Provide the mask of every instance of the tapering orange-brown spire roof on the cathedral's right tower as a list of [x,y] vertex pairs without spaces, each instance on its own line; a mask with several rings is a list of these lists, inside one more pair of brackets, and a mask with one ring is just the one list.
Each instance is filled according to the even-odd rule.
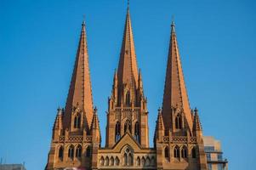
[[162,116],[165,127],[171,127],[172,107],[179,107],[185,112],[188,126],[192,130],[192,117],[188,95],[185,88],[179,48],[175,33],[174,21],[172,21],[171,39],[168,52],[168,65],[165,78],[165,87],[162,101]]

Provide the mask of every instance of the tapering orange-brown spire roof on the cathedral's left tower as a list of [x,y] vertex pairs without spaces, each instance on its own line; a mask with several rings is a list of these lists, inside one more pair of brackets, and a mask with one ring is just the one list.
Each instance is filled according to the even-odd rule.
[[74,106],[78,106],[85,113],[84,118],[87,120],[86,124],[91,124],[93,119],[93,97],[84,21],[82,21],[82,31],[77,49],[77,57],[65,104],[65,127],[68,127],[70,124],[71,111]]

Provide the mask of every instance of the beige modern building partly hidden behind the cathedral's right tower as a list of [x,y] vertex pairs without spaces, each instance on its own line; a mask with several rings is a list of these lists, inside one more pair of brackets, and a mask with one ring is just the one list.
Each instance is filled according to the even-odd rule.
[[223,158],[220,141],[212,136],[204,136],[203,142],[208,160],[208,170],[228,170],[228,161]]

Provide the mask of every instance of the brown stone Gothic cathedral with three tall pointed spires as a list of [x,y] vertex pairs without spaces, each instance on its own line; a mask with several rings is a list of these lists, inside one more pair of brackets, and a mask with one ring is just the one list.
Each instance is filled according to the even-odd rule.
[[198,111],[191,109],[185,87],[174,22],[162,106],[156,112],[154,146],[150,147],[150,114],[128,8],[119,63],[108,98],[105,146],[101,146],[83,21],[65,108],[57,110],[45,169],[208,169]]

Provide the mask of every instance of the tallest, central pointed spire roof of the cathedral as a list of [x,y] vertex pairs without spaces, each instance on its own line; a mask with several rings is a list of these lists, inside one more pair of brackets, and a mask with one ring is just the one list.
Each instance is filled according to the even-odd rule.
[[134,36],[131,26],[129,8],[127,9],[126,22],[123,31],[122,49],[117,70],[118,82],[138,86],[138,68],[134,48]]

